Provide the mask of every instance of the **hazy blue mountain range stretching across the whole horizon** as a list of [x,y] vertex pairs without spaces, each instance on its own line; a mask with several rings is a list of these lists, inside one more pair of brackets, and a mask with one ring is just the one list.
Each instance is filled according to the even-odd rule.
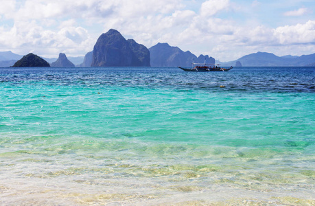
[[[23,58],[12,52],[0,52],[0,67],[10,67]],[[117,30],[109,30],[98,38],[92,52],[84,57],[69,57],[61,54],[59,58],[43,58],[49,64],[64,59],[67,65],[77,67],[191,67],[191,62],[207,62],[214,64],[215,59],[208,55],[196,56],[191,52],[183,52],[178,47],[167,43],[158,43],[149,49],[132,39],[126,40]],[[69,60],[68,60],[69,59]],[[69,62],[68,62],[69,61]],[[217,62],[222,66],[236,67],[314,67],[315,54],[302,56],[276,56],[272,53],[257,52],[248,54],[237,60]],[[58,64],[57,64],[58,65]],[[62,64],[60,64],[62,66]],[[60,67],[60,66],[59,66]]]

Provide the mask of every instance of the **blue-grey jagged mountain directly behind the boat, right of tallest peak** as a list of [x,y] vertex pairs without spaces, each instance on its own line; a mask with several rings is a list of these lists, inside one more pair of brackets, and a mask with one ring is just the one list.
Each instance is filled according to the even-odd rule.
[[198,58],[191,52],[183,52],[178,47],[171,47],[167,43],[158,43],[150,47],[150,59],[152,67],[191,67],[191,62],[207,62],[214,64],[215,59],[208,55],[200,55]]

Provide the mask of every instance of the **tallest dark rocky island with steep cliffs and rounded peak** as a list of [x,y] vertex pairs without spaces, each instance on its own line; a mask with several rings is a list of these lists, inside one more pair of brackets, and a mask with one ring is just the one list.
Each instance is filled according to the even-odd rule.
[[93,48],[92,67],[150,67],[147,47],[126,40],[117,30],[102,34]]

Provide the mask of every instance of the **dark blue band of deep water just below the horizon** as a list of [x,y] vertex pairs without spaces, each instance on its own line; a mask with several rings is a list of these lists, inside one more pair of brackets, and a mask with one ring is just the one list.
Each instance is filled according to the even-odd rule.
[[235,67],[229,72],[178,68],[1,68],[1,82],[43,82],[86,87],[147,87],[222,91],[314,92],[315,67]]

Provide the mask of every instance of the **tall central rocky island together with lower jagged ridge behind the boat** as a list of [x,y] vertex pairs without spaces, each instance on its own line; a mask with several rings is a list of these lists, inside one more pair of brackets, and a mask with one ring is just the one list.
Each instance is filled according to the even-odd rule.
[[117,30],[109,30],[100,36],[93,51],[84,56],[80,67],[191,67],[193,61],[215,63],[208,55],[197,57],[167,43],[147,49],[132,39],[126,41]]

